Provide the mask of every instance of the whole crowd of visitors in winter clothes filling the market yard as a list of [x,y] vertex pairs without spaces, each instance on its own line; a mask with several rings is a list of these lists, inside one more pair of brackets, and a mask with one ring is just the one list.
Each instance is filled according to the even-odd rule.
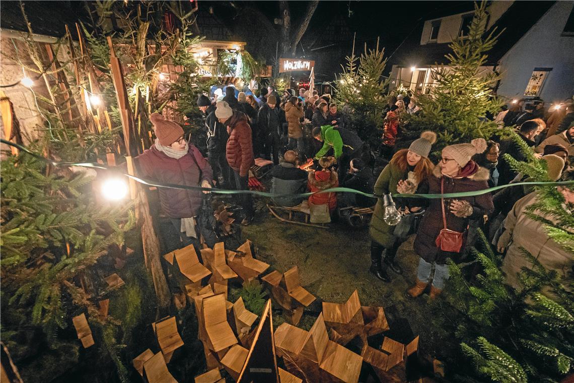
[[[524,105],[526,104],[526,105]],[[542,106],[540,106],[542,105]],[[286,89],[262,88],[259,96],[246,95],[227,87],[226,95],[214,100],[200,95],[197,107],[204,114],[207,132],[207,161],[184,138],[177,123],[159,114],[151,117],[157,140],[137,157],[144,175],[171,184],[200,185],[207,192],[213,186],[246,191],[255,158],[272,161],[273,203],[293,207],[307,203],[315,222],[330,222],[338,207],[374,207],[370,221],[371,264],[369,270],[382,281],[391,281],[389,270],[401,274],[397,250],[410,234],[416,234],[414,252],[419,256],[417,279],[408,289],[411,297],[430,288],[439,295],[449,276],[447,260],[460,261],[482,229],[495,249],[505,252],[507,281],[518,285],[517,273],[528,266],[521,247],[529,250],[546,268],[566,274],[574,261],[571,254],[546,234],[542,223],[528,215],[536,202],[532,188],[509,187],[502,191],[461,198],[426,199],[417,194],[475,192],[497,185],[528,180],[502,154],[526,160],[522,146],[498,136],[470,143],[448,145],[438,164],[429,156],[436,133],[425,131],[408,148],[397,148],[397,135],[405,116],[421,113],[416,99],[399,95],[389,102],[381,132],[379,155],[386,166],[378,177],[368,165],[369,145],[352,129],[348,113],[340,113],[331,95],[301,88],[296,94]],[[500,126],[516,125],[520,139],[545,161],[548,177],[572,180],[570,160],[574,156],[572,100],[544,114],[544,103],[519,100],[491,119]],[[332,153],[330,153],[332,152]],[[331,154],[331,155],[329,155]],[[306,164],[307,166],[301,166]],[[348,187],[378,198],[353,193],[322,192],[302,198],[305,192]],[[571,188],[559,188],[566,207],[574,206]],[[413,198],[382,196],[413,194]],[[236,194],[242,207],[242,224],[254,219],[249,193]],[[194,243],[201,234],[198,224],[201,192],[162,189],[162,210],[184,243]],[[389,206],[400,214],[398,222],[387,216]],[[552,220],[552,217],[548,217]],[[534,241],[533,238],[536,238]]]

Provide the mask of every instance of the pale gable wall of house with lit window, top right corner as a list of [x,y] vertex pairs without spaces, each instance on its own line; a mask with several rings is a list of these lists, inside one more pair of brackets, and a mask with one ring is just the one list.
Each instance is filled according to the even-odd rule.
[[561,36],[574,2],[557,1],[500,61],[498,94],[522,97],[534,68],[552,68],[542,87],[546,103],[574,93],[574,37]]

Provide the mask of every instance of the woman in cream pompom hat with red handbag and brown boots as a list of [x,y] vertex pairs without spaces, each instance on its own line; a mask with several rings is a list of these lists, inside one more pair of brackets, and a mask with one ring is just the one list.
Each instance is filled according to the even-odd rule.
[[[471,157],[486,150],[486,141],[476,138],[470,144],[449,145],[443,149],[439,165],[429,177],[429,194],[472,192],[488,188],[488,169],[479,167]],[[430,297],[442,291],[448,279],[447,260],[460,261],[465,232],[471,219],[482,219],[494,208],[490,193],[430,200],[414,240],[420,256],[417,283],[408,294],[417,297],[430,284]],[[430,279],[432,269],[435,274]]]

